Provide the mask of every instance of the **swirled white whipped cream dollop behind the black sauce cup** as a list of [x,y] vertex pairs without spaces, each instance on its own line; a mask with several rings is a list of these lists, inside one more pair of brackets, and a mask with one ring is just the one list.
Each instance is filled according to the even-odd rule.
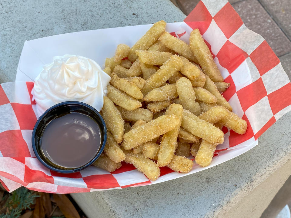
[[100,111],[109,81],[109,75],[92,59],[69,54],[55,56],[35,78],[32,95],[36,112],[40,116],[63,101],[81,101]]

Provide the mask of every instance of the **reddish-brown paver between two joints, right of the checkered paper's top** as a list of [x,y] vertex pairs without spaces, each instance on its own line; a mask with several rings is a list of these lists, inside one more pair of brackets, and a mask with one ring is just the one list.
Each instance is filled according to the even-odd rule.
[[290,40],[257,0],[240,1],[232,6],[246,27],[263,36],[277,56],[291,51]]

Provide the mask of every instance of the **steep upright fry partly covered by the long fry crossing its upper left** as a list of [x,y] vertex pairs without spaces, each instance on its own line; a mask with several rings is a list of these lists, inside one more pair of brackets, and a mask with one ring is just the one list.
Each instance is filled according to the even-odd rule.
[[177,148],[177,137],[178,137],[179,129],[182,122],[182,114],[183,114],[183,107],[181,104],[171,104],[166,110],[166,113],[164,116],[175,115],[178,119],[178,123],[176,124],[176,127],[174,129],[165,133],[162,137],[160,150],[158,154],[158,162],[157,162],[159,167],[168,165],[173,158],[173,155]]

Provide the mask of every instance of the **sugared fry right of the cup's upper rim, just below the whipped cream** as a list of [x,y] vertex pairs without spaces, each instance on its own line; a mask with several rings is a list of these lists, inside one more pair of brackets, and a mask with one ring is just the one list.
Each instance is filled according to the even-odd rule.
[[109,97],[104,96],[103,102],[102,117],[106,127],[112,133],[115,141],[121,143],[124,134],[124,120]]

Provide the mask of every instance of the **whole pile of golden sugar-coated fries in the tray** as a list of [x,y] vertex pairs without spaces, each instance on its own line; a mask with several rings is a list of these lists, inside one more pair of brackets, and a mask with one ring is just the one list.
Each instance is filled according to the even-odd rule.
[[230,84],[199,30],[188,45],[165,27],[165,21],[155,23],[132,48],[120,44],[106,58],[111,81],[101,112],[108,134],[97,167],[112,172],[125,161],[156,180],[163,166],[189,172],[190,154],[208,166],[224,141],[223,126],[246,132],[246,121],[221,95]]

